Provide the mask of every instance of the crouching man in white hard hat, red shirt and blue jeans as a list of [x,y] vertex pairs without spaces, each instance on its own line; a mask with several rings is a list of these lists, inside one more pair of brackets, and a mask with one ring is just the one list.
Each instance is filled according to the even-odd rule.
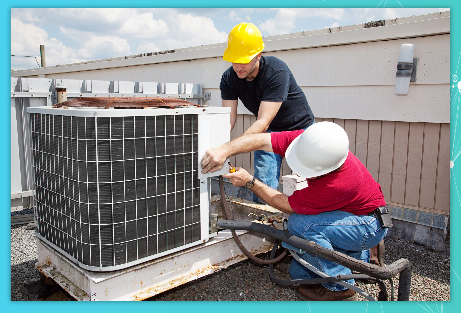
[[[373,214],[378,207],[386,205],[381,186],[349,151],[348,136],[340,126],[320,122],[307,130],[241,136],[219,148],[207,150],[201,160],[202,173],[220,169],[229,155],[254,150],[286,157],[296,175],[307,178],[308,187],[286,196],[255,180],[241,167],[223,177],[229,178],[235,186],[251,188],[268,205],[291,214],[288,219],[290,234],[364,262],[372,259],[371,263],[384,266],[384,246],[379,243],[387,228],[382,228]],[[378,244],[382,246],[381,251],[377,251]],[[348,268],[316,255],[305,253],[301,256],[330,276],[351,274]],[[293,279],[319,278],[295,259],[290,265],[290,276]],[[347,282],[354,284],[354,280]],[[295,293],[305,301],[357,301],[355,291],[337,283],[299,285]]]

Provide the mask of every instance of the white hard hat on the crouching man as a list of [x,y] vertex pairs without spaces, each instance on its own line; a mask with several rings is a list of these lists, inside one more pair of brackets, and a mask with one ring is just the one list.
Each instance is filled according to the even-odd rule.
[[349,153],[349,137],[341,126],[319,122],[291,142],[285,157],[291,170],[304,178],[317,177],[343,165]]

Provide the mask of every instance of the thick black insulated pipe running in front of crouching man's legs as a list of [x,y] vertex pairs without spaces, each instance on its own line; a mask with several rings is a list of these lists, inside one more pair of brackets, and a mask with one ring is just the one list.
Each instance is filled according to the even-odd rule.
[[321,258],[338,263],[342,266],[350,268],[353,271],[361,272],[379,279],[389,279],[402,272],[400,273],[400,279],[402,280],[403,277],[405,284],[402,283],[402,285],[400,285],[399,283],[399,293],[402,295],[402,299],[406,299],[406,297],[409,296],[408,281],[411,282],[411,264],[406,259],[399,259],[386,267],[379,267],[370,263],[363,262],[361,260],[354,259],[349,255],[324,248],[314,242],[296,237],[286,231],[278,230],[274,227],[260,223],[219,220],[217,226],[219,229],[251,230],[259,232],[261,234],[265,234],[280,241],[286,242],[295,248],[306,250],[307,253],[318,255]]

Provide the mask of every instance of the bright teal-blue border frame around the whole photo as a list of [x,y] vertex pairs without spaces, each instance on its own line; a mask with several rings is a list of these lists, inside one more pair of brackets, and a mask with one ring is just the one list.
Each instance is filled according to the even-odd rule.
[[[1,219],[1,232],[0,238],[0,271],[3,272],[3,275],[0,276],[0,301],[2,307],[4,307],[4,312],[13,312],[13,311],[22,311],[22,310],[33,310],[33,311],[44,311],[44,310],[66,310],[66,313],[78,312],[81,313],[83,309],[80,306],[88,306],[87,309],[91,307],[90,310],[98,311],[111,311],[111,312],[125,312],[127,309],[134,309],[134,307],[125,307],[125,305],[130,306],[129,304],[124,303],[104,303],[104,304],[89,304],[87,302],[13,302],[10,301],[10,241],[6,238],[7,234],[7,224],[8,216],[7,213],[7,203],[8,203],[8,190],[10,190],[10,112],[7,109],[7,95],[9,91],[9,76],[6,76],[8,67],[10,63],[9,57],[7,57],[7,52],[10,50],[10,8],[12,7],[325,7],[325,8],[336,8],[336,7],[355,7],[355,8],[375,8],[383,7],[384,5],[389,8],[399,8],[399,7],[443,7],[450,8],[450,20],[451,20],[451,54],[450,54],[450,82],[452,88],[450,89],[450,145],[452,150],[450,152],[450,159],[455,159],[454,166],[450,170],[450,220],[451,224],[455,225],[457,222],[460,222],[460,209],[461,209],[461,158],[460,161],[456,159],[457,154],[460,150],[454,149],[455,145],[461,140],[461,125],[460,129],[456,130],[458,123],[458,115],[461,114],[460,110],[460,99],[461,99],[461,89],[458,89],[457,83],[461,81],[461,67],[460,57],[461,57],[461,33],[460,25],[461,21],[458,19],[460,15],[458,13],[461,11],[461,1],[459,0],[234,0],[234,1],[223,1],[219,5],[216,1],[202,0],[198,1],[184,1],[177,0],[174,2],[166,1],[146,1],[140,0],[136,2],[130,2],[129,5],[125,1],[115,0],[115,1],[66,1],[66,2],[56,2],[56,1],[30,1],[24,0],[21,2],[17,1],[5,1],[0,5],[0,23],[3,25],[1,30],[1,55],[4,55],[5,59],[2,59],[0,62],[0,69],[3,73],[0,75],[1,79],[1,89],[3,90],[2,98],[5,100],[4,104],[0,106],[0,134],[3,136],[0,137],[1,145],[4,147],[4,153],[0,153],[0,175],[2,179],[0,180],[0,203],[3,203],[3,218]],[[8,59],[7,59],[8,58]],[[447,73],[448,75],[448,73]],[[456,77],[454,77],[456,75]],[[460,77],[454,81],[453,78]],[[460,87],[461,88],[461,83]],[[461,120],[461,116],[460,116]],[[7,147],[7,148],[6,148]],[[461,148],[460,148],[461,149]],[[458,184],[456,184],[458,180]],[[458,187],[456,188],[456,185]],[[338,312],[384,312],[392,310],[394,312],[421,312],[421,313],[449,313],[449,312],[459,312],[461,307],[460,299],[460,287],[461,287],[461,264],[460,256],[461,252],[461,238],[460,238],[460,228],[451,227],[450,230],[450,241],[451,241],[451,272],[450,272],[450,292],[451,301],[449,302],[348,302],[347,304],[341,304],[341,302],[272,302],[271,307],[261,307],[261,303],[258,302],[141,302],[136,304],[136,306],[142,307],[148,310],[169,310],[169,311],[179,311],[187,310],[188,312],[202,312],[202,311],[229,311],[230,309],[238,309],[243,312],[248,312],[253,309],[277,309],[277,310],[302,310],[304,312],[315,313],[326,310],[337,310]],[[87,304],[85,304],[87,303]],[[99,307],[99,305],[101,307]],[[134,305],[134,304],[133,304]],[[458,309],[456,309],[458,307]],[[307,311],[308,310],[308,311]]]

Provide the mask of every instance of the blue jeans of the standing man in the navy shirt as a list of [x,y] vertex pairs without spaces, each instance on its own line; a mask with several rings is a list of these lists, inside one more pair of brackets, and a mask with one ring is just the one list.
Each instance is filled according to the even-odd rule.
[[[315,124],[315,120],[309,126]],[[307,128],[307,127],[306,127]],[[306,129],[304,128],[304,129]],[[272,130],[266,130],[267,133],[272,133]],[[278,180],[280,179],[280,166],[282,165],[283,157],[273,152],[264,150],[256,150],[253,154],[254,177],[261,183],[266,184],[272,189],[277,190]],[[266,204],[257,195],[253,194],[253,202]]]

